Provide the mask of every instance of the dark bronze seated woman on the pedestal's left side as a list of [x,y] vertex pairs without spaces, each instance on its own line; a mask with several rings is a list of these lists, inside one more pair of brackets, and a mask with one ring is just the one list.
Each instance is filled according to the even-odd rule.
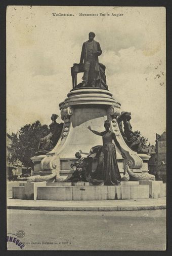
[[53,150],[55,145],[57,144],[63,128],[63,123],[58,124],[56,122],[57,118],[58,118],[58,115],[56,114],[52,115],[51,117],[52,123],[49,125],[50,133],[44,138],[40,139],[38,144],[38,149],[37,149],[37,152],[35,152],[35,155],[47,154],[48,152]]

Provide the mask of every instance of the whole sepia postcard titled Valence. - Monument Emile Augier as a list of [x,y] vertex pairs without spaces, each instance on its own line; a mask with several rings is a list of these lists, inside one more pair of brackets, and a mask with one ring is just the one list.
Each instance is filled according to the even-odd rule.
[[7,249],[166,250],[164,7],[7,7]]

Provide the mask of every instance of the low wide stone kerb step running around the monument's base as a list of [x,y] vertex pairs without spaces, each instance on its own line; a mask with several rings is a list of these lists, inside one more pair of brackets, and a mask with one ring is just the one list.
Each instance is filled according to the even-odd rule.
[[125,200],[23,200],[8,199],[8,209],[49,210],[49,211],[132,211],[166,209],[166,198],[125,199]]

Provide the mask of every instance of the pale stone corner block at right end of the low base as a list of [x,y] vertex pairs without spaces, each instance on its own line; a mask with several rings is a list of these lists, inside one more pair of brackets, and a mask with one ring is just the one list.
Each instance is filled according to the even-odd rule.
[[150,198],[160,198],[161,197],[161,186],[163,185],[162,181],[140,180],[139,184],[149,185],[149,197]]

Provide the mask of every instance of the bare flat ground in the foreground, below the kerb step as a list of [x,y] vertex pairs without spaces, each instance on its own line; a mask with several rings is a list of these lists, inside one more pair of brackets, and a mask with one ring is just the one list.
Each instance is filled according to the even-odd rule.
[[8,210],[8,233],[25,232],[25,236],[20,238],[25,247],[20,249],[15,243],[8,242],[8,249],[164,250],[165,216],[165,210]]

